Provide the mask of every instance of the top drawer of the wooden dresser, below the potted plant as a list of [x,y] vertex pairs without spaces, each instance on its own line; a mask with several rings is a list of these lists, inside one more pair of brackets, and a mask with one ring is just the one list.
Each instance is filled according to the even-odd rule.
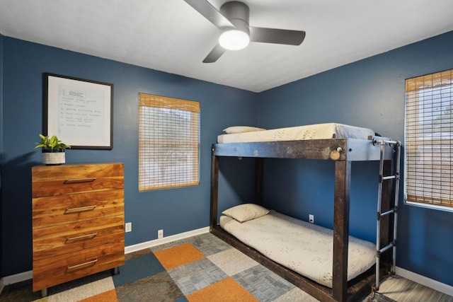
[[32,179],[33,198],[124,188],[122,163],[40,165]]

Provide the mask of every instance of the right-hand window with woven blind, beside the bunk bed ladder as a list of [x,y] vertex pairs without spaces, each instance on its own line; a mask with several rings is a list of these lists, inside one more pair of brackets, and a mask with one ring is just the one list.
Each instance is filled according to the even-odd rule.
[[406,80],[406,202],[453,210],[453,70]]

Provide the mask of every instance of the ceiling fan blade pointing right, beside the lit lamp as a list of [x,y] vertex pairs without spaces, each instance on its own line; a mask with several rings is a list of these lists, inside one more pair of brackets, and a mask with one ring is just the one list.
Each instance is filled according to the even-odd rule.
[[305,39],[302,30],[280,30],[277,28],[254,28],[249,26],[250,41],[285,45],[300,45]]

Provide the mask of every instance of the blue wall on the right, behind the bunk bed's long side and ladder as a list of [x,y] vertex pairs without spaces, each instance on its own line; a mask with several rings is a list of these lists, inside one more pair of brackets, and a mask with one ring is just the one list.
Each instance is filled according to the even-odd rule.
[[[453,69],[453,32],[260,93],[258,124],[339,122],[403,141],[405,79],[446,69]],[[272,161],[265,169],[268,207],[333,225],[333,163]],[[372,241],[377,175],[377,163],[352,163],[350,231]],[[402,194],[400,201],[398,267],[453,286],[453,213],[408,206]]]

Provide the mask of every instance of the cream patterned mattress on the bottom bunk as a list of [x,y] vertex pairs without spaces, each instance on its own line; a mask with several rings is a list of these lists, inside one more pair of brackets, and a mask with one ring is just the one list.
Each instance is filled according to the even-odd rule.
[[[221,216],[220,226],[270,260],[332,288],[333,231],[273,210],[267,212],[239,221]],[[372,267],[375,255],[376,245],[349,236],[348,281]]]

